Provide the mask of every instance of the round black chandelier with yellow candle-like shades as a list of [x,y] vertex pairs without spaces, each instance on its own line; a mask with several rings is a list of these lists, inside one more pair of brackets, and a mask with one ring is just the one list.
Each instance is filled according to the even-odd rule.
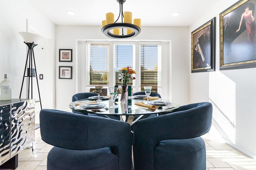
[[[132,24],[132,12],[123,12],[123,4],[126,0],[116,0],[120,10],[117,20],[114,22],[114,14],[106,14],[106,20],[102,21],[102,33],[110,38],[132,38],[140,34],[140,19],[136,18]],[[117,22],[121,19],[121,22]]]

